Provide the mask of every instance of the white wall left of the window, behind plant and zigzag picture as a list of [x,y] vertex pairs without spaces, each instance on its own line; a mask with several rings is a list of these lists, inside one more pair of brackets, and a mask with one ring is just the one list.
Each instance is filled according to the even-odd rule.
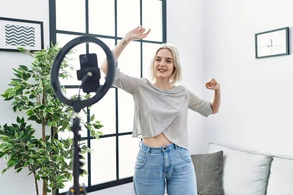
[[[34,8],[35,7],[35,8]],[[15,18],[23,20],[38,20],[43,21],[44,29],[44,46],[49,43],[49,3],[47,0],[1,0],[0,1],[0,17]],[[7,89],[7,85],[15,78],[12,68],[18,68],[18,65],[29,65],[32,58],[29,55],[17,52],[0,52],[0,90]],[[11,102],[10,102],[11,103]],[[23,116],[20,112],[14,113],[12,106],[8,102],[0,100],[0,124],[11,124],[15,122],[16,116]],[[33,126],[37,128],[37,126]],[[38,132],[38,131],[36,131]],[[41,130],[40,136],[41,136]],[[3,158],[0,159],[0,170],[4,168]],[[28,169],[22,170],[18,174],[14,174],[15,170],[7,171],[3,176],[0,176],[1,194],[9,195],[35,195],[34,176],[27,176]],[[42,192],[42,182],[39,182],[39,192]]]

